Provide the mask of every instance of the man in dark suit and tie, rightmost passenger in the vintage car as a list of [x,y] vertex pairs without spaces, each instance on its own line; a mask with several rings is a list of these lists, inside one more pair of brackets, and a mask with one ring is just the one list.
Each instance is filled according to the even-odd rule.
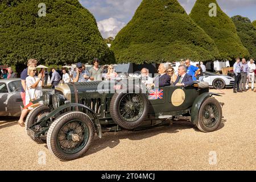
[[175,86],[193,85],[192,76],[187,75],[187,68],[185,67],[185,65],[180,65],[178,72],[179,72],[179,76],[177,77],[177,80],[174,82]]

